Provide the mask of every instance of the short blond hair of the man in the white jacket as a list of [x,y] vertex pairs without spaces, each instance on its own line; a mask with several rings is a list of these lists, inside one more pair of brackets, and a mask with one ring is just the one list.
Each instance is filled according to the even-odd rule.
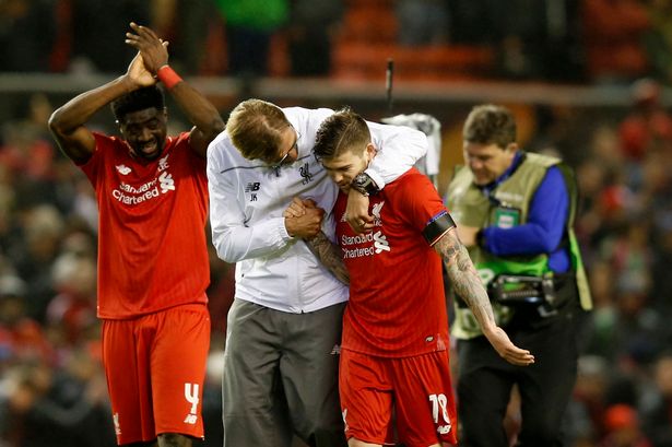
[[282,131],[291,126],[280,107],[261,99],[238,104],[226,122],[226,132],[247,160],[272,163],[282,144]]

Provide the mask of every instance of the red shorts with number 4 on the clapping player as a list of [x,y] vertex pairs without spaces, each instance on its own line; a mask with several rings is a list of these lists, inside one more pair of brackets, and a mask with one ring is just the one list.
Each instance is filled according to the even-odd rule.
[[209,349],[203,304],[104,320],[103,361],[118,444],[149,442],[162,433],[203,437]]

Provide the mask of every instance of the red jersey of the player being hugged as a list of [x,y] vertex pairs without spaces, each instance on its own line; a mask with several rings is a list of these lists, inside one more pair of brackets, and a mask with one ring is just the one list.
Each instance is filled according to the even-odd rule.
[[423,237],[433,217],[446,212],[440,197],[411,169],[369,199],[375,227],[363,235],[344,219],[346,196],[339,195],[334,209],[351,281],[343,349],[386,357],[446,350],[441,259]]

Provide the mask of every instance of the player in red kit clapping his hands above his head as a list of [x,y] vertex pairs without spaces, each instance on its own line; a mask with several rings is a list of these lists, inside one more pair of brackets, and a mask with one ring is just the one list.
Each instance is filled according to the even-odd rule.
[[[204,155],[224,122],[168,66],[168,43],[130,27],[138,55],[128,71],[57,109],[49,127],[96,191],[97,314],[117,443],[188,447],[203,438],[210,345]],[[189,132],[167,137],[160,82]],[[121,138],[86,127],[110,103]]]

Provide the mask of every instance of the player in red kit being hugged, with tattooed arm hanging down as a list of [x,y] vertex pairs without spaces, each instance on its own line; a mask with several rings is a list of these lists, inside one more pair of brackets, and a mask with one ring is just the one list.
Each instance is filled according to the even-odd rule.
[[[365,121],[349,109],[325,120],[315,145],[316,156],[342,192],[333,215],[351,281],[339,383],[349,446],[389,442],[392,409],[400,440],[408,447],[456,445],[441,261],[452,287],[467,296],[499,355],[517,365],[529,365],[534,357],[495,324],[455,223],[420,172],[413,168],[369,197],[370,232],[357,234],[347,224],[346,193],[377,149]],[[286,215],[298,216],[311,205],[296,199]],[[326,255],[326,262],[335,261],[333,246],[325,238],[308,243]]]

